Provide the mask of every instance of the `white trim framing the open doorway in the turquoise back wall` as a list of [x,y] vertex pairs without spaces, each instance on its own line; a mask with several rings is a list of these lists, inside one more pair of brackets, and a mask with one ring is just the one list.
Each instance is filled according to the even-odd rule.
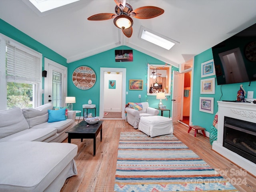
[[[100,68],[100,112],[99,118],[103,118],[104,113],[104,72],[122,72],[122,120],[125,120],[125,103],[126,103],[126,68]],[[114,101],[113,101],[114,102]],[[104,120],[111,120],[116,118],[104,118]]]

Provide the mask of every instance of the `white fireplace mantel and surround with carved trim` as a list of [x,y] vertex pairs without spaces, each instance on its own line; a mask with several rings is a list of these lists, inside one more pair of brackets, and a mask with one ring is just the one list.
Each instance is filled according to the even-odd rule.
[[223,147],[224,116],[256,123],[256,104],[218,101],[218,135],[212,149],[256,176],[256,164]]

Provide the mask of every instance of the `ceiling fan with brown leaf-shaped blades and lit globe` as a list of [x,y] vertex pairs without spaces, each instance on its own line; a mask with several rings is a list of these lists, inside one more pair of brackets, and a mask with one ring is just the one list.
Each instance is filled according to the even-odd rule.
[[114,0],[116,2],[115,12],[113,13],[99,13],[88,17],[91,21],[102,21],[114,18],[114,24],[116,27],[122,29],[124,35],[128,38],[132,36],[132,24],[131,18],[137,19],[150,19],[160,16],[164,13],[164,10],[155,6],[139,7],[135,10],[132,9],[126,0]]

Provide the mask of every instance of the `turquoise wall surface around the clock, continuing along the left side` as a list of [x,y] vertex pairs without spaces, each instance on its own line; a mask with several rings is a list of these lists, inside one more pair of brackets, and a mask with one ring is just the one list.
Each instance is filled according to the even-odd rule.
[[[67,64],[66,58],[57,54],[53,50],[44,46],[40,42],[34,40],[27,34],[24,34],[17,28],[11,26],[4,20],[0,19],[0,33],[20,42],[42,53],[43,56],[43,70],[44,70],[44,57],[53,60],[59,64],[68,67],[68,96],[75,96],[76,103],[73,105],[74,110],[82,110],[82,104],[86,104],[88,99],[92,99],[94,104],[97,106],[96,115],[99,115],[99,99],[100,99],[100,67],[112,67],[112,68],[126,68],[126,102],[144,102],[148,101],[150,106],[157,107],[159,100],[156,100],[156,96],[147,96],[147,64],[165,64],[164,62],[133,50],[133,62],[115,62],[114,50],[119,49],[131,49],[127,46],[120,46],[115,49],[111,49],[88,58],[78,60]],[[96,73],[96,84],[89,90],[80,90],[76,88],[72,82],[72,73],[78,66],[89,66]],[[172,67],[172,70],[178,70]],[[129,79],[142,79],[144,82],[143,90],[129,90],[128,82]],[[44,80],[44,79],[43,79]],[[43,82],[44,84],[44,82]],[[44,88],[44,86],[42,87]],[[171,90],[172,91],[172,90]],[[138,94],[141,94],[141,99],[138,98]],[[172,109],[171,96],[167,97],[168,100],[163,100],[162,103],[166,105],[166,108]],[[164,112],[164,116],[168,116],[168,112]]]

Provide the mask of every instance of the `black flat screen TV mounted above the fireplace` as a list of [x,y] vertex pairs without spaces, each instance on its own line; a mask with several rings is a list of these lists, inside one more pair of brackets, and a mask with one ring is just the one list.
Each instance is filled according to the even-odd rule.
[[212,47],[218,85],[256,81],[256,24]]

